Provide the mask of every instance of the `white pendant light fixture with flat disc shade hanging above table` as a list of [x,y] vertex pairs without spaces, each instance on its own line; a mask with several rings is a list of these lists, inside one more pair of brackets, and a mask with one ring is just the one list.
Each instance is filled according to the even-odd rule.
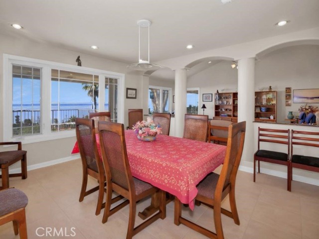
[[[157,65],[157,64],[152,64],[150,63],[150,26],[152,22],[146,19],[142,19],[138,21],[139,25],[139,63],[134,63],[131,65],[128,65],[128,68],[132,70],[137,70],[137,71],[147,71],[147,70],[158,70],[162,68],[162,66]],[[148,27],[148,60],[142,60],[141,59],[141,27]]]

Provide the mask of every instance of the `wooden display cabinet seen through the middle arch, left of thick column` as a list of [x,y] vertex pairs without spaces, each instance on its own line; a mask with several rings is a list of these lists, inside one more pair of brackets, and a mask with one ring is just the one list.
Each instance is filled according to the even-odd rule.
[[238,117],[238,93],[215,93],[215,117],[214,119],[228,118],[237,122]]

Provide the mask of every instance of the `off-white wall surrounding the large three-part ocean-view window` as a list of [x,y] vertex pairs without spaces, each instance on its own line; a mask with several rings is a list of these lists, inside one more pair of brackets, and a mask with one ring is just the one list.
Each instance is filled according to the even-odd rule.
[[[3,89],[3,53],[24,56],[29,58],[60,62],[76,65],[75,59],[81,56],[82,66],[119,72],[125,74],[125,87],[137,88],[137,99],[125,99],[125,125],[128,124],[127,110],[129,108],[142,107],[141,73],[128,72],[127,64],[111,61],[105,58],[83,54],[75,51],[65,50],[61,47],[52,46],[43,42],[34,42],[24,38],[16,38],[0,35],[0,92]],[[0,121],[2,122],[3,96],[0,95]],[[75,135],[75,132],[74,132]],[[0,141],[3,139],[3,124],[0,123]],[[44,141],[39,143],[22,144],[22,148],[27,150],[28,165],[38,164],[45,161],[65,158],[71,155],[71,150],[76,141],[75,137],[63,138],[59,140]],[[1,150],[10,150],[7,147]],[[14,166],[13,166],[14,167]],[[15,167],[19,167],[15,165]],[[12,168],[12,167],[10,167]]]

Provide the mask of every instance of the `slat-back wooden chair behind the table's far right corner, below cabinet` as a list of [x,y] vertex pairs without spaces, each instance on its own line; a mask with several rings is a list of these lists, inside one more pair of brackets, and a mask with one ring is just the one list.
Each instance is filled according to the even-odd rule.
[[228,126],[232,124],[231,121],[226,120],[210,120],[208,128],[208,142],[217,144],[226,144],[228,137]]

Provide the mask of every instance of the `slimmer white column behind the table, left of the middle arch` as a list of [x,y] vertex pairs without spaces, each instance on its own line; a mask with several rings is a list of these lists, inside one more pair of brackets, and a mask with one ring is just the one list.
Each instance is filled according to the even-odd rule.
[[186,114],[187,70],[175,70],[175,136],[182,137]]

